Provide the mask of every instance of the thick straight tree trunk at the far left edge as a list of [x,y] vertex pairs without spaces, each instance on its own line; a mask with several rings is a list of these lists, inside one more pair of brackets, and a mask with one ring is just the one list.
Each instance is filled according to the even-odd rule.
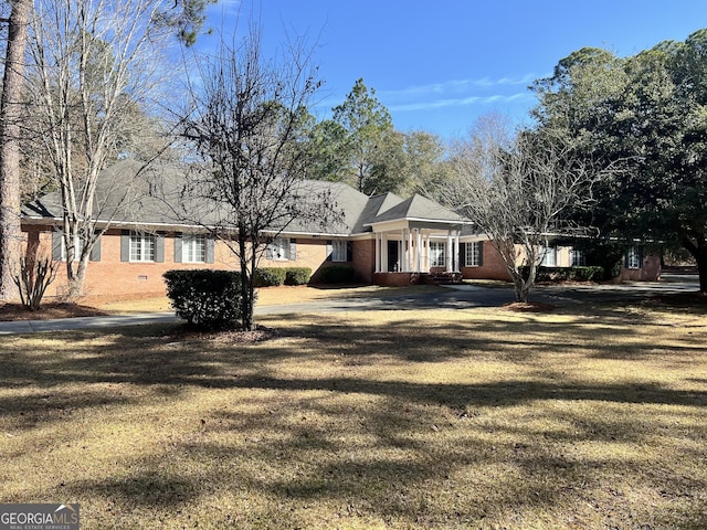
[[19,266],[20,229],[20,119],[24,83],[24,51],[32,0],[12,0],[0,97],[0,299],[17,296],[12,269]]

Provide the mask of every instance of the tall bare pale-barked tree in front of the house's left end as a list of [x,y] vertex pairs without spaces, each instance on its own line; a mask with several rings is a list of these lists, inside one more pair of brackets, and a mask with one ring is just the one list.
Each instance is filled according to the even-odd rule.
[[157,22],[169,3],[42,0],[34,10],[28,87],[40,127],[34,137],[44,142],[62,197],[68,297],[82,294],[92,248],[130,197],[125,181],[109,200],[97,198],[96,187],[101,171],[139,136],[136,107],[156,100],[168,77],[172,29]]

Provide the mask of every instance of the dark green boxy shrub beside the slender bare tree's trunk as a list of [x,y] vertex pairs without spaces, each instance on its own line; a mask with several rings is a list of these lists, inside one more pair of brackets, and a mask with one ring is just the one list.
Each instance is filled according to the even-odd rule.
[[241,273],[167,271],[167,296],[179,318],[205,329],[234,328],[241,318]]

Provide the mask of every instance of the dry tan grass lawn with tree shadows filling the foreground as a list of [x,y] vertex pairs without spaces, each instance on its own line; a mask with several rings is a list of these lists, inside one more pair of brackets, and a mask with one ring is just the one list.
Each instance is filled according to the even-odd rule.
[[707,317],[267,317],[0,339],[0,502],[82,528],[707,527]]

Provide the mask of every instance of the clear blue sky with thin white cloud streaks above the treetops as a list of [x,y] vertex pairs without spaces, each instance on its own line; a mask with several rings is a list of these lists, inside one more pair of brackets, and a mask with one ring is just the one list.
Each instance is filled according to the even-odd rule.
[[[633,55],[707,26],[701,0],[220,0],[208,24],[230,34],[260,12],[264,49],[306,34],[324,87],[313,109],[327,117],[363,78],[395,128],[452,138],[478,116],[527,120],[528,85],[583,46]],[[217,36],[203,36],[199,46]]]

